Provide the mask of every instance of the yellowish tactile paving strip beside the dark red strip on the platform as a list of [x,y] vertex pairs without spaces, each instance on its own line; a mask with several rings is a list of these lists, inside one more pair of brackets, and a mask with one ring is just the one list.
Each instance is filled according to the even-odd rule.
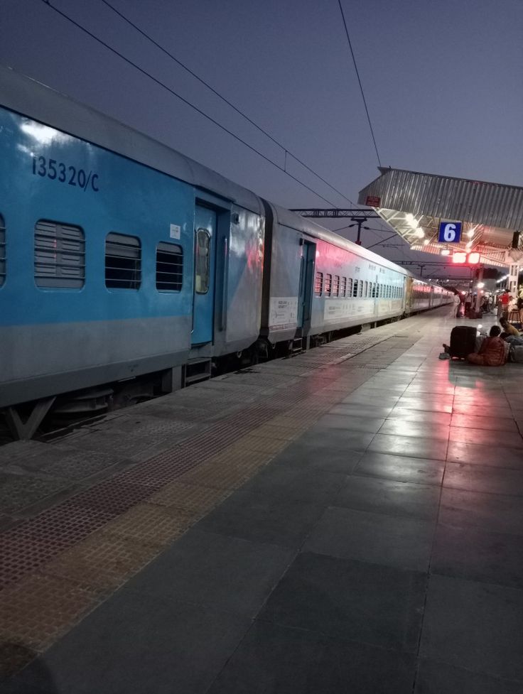
[[[347,379],[343,371],[331,374],[314,379],[307,394],[289,401],[284,412],[260,425],[255,412],[263,405],[253,403],[252,428],[245,435],[214,455],[208,452],[209,440],[203,441],[201,462],[176,482],[166,482],[159,491],[151,489],[149,497],[1,591],[4,675],[26,663],[31,651],[43,651],[63,636],[357,387],[354,376]],[[362,374],[361,380],[366,379]],[[185,445],[195,448],[193,442],[180,443]],[[180,446],[173,449],[173,457],[180,455]]]

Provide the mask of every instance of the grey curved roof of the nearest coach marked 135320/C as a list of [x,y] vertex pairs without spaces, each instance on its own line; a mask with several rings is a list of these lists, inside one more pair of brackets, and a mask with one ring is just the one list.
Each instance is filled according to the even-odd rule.
[[252,191],[189,157],[106,116],[0,65],[0,104],[28,118],[91,142],[198,188],[263,214]]

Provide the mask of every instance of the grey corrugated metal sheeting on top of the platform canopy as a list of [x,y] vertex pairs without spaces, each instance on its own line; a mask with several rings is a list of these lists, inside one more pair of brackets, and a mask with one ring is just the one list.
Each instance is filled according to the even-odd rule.
[[512,231],[523,229],[523,188],[517,185],[393,168],[379,170],[382,175],[360,191],[360,205],[367,205],[367,197],[379,197],[379,207],[388,210]]

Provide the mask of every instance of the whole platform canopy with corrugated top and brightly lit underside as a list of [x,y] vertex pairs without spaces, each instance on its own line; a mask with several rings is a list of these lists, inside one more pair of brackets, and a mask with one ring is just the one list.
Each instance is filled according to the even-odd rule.
[[[360,191],[413,251],[476,251],[485,265],[523,264],[523,188],[394,168]],[[459,243],[438,242],[440,222],[462,222]],[[515,235],[514,235],[515,234]],[[443,251],[443,253],[442,253]]]

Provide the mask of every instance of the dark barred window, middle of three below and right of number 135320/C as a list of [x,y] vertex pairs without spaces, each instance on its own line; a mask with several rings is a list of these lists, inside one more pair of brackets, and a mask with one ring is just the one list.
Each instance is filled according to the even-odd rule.
[[107,234],[105,239],[105,286],[138,289],[141,285],[141,244],[134,236]]

